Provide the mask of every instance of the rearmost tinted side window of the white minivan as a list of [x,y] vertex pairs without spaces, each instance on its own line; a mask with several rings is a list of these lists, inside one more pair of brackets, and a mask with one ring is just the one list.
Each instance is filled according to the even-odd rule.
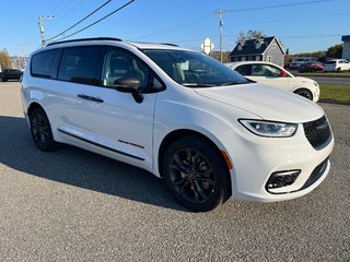
[[31,63],[32,75],[55,79],[59,52],[59,49],[55,49],[34,55]]

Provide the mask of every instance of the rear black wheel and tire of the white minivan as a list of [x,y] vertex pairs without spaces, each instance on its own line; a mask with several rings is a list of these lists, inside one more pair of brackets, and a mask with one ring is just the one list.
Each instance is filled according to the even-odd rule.
[[56,148],[50,122],[43,108],[35,108],[30,116],[31,133],[34,144],[40,151],[51,151]]

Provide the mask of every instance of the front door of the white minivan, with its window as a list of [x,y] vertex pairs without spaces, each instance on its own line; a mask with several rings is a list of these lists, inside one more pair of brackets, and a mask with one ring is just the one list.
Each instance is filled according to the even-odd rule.
[[[130,93],[113,86],[122,78],[140,81],[142,102]],[[160,83],[155,81],[156,83]],[[153,112],[156,92],[147,92],[154,78],[151,70],[135,55],[116,47],[107,47],[102,71],[102,86],[91,96],[103,100],[91,108],[94,140],[110,148],[120,160],[147,169],[152,166]]]

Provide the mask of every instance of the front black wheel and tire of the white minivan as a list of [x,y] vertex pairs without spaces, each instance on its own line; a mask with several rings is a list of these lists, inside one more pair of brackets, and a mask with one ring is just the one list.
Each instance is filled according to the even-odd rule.
[[211,211],[230,198],[225,163],[206,140],[184,136],[171,144],[164,155],[163,175],[173,195],[192,211]]

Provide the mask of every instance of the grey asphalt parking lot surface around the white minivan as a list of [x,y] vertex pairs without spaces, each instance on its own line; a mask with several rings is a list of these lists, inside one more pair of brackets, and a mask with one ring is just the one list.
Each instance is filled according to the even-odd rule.
[[36,150],[20,84],[0,83],[1,261],[350,261],[350,106],[319,105],[336,143],[315,191],[191,213],[139,168]]

